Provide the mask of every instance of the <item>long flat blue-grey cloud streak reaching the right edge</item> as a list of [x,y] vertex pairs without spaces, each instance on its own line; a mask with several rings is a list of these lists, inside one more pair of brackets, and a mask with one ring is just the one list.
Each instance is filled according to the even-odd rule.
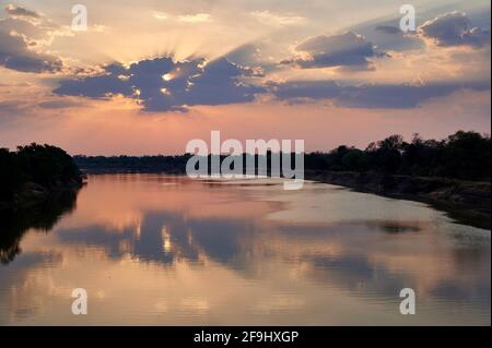
[[290,82],[270,84],[281,100],[328,99],[348,108],[408,109],[423,101],[447,96],[460,89],[488,91],[490,82],[409,84],[365,84],[343,86],[335,81]]

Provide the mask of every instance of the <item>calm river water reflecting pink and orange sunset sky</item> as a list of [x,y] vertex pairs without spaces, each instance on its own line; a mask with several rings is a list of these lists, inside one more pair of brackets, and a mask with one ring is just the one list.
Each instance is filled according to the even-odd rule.
[[[2,325],[491,324],[490,231],[421,203],[93,176],[77,202],[0,224]],[[87,315],[71,313],[74,288]]]

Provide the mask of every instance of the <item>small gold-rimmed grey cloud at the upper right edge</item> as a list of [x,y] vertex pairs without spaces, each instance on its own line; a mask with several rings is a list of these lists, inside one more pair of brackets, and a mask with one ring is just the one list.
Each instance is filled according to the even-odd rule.
[[423,38],[437,46],[470,46],[480,48],[490,45],[490,32],[471,27],[471,22],[462,12],[441,14],[422,24],[418,32]]

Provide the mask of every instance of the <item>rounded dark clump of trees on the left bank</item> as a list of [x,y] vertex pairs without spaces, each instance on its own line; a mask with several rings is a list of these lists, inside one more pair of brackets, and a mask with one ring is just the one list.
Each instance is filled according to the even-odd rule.
[[63,149],[50,145],[19,146],[15,152],[0,148],[0,202],[28,195],[27,187],[50,192],[80,184],[81,171]]

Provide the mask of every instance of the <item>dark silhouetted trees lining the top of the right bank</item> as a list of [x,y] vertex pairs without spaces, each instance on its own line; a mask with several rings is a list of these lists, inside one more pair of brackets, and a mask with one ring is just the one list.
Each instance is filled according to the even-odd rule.
[[476,132],[459,131],[442,141],[415,134],[410,143],[391,135],[364,151],[339,146],[328,154],[309,154],[306,168],[490,180],[490,136]]

